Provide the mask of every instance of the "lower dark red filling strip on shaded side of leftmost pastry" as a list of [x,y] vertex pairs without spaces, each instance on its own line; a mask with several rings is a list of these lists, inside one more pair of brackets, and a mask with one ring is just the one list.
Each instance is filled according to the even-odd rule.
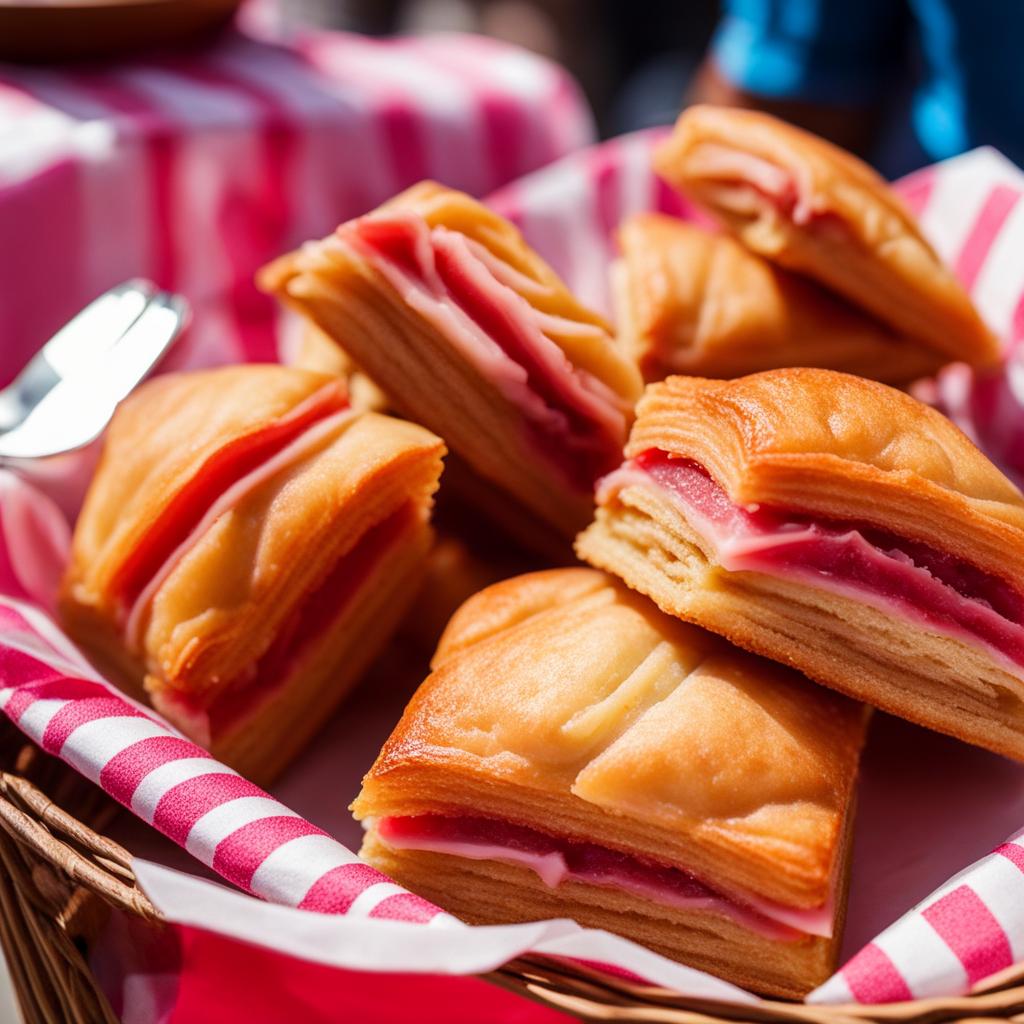
[[334,629],[374,568],[415,528],[415,521],[416,513],[407,505],[368,529],[299,602],[249,671],[218,690],[212,699],[204,703],[190,693],[164,689],[155,694],[158,710],[176,722],[189,723],[189,733],[204,737],[207,745],[238,725],[280,689]]

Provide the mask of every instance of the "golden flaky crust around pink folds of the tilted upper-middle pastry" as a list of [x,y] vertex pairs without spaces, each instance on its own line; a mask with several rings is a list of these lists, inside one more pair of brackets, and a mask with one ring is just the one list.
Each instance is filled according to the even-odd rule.
[[[502,294],[512,307],[560,349],[575,385],[596,396],[603,422],[587,419],[590,426],[573,433],[570,455],[559,461],[564,410],[520,379],[521,367],[487,344],[474,347],[478,326],[467,327],[465,316],[455,316],[454,326],[438,323],[432,298],[424,309],[367,257],[356,238],[359,225],[393,218],[396,211],[414,224],[459,232],[482,247],[481,259],[501,264],[496,287],[506,289]],[[260,282],[346,348],[396,410],[443,436],[481,478],[563,537],[589,518],[590,480],[571,478],[566,466],[577,465],[581,450],[588,451],[580,464],[606,462],[617,450],[642,387],[640,375],[603,319],[572,297],[512,224],[468,196],[425,182],[282,257],[264,268]]]

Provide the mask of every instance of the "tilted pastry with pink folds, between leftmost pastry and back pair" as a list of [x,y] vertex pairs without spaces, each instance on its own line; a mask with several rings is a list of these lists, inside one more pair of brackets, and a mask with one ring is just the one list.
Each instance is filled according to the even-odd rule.
[[508,221],[423,182],[260,283],[542,521],[570,537],[590,518],[640,377]]

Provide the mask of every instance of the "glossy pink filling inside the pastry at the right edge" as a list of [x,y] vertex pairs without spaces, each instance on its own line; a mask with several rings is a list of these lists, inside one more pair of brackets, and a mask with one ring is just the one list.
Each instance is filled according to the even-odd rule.
[[599,500],[650,482],[682,506],[729,571],[797,579],[983,645],[1018,672],[1024,667],[1024,595],[993,573],[867,523],[735,505],[702,466],[656,450],[605,477]]

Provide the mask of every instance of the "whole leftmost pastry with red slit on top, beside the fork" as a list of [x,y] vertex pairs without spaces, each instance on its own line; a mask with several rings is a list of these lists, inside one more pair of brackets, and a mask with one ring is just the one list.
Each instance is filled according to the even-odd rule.
[[118,410],[75,528],[70,635],[265,784],[397,626],[441,441],[273,366],[170,374]]

